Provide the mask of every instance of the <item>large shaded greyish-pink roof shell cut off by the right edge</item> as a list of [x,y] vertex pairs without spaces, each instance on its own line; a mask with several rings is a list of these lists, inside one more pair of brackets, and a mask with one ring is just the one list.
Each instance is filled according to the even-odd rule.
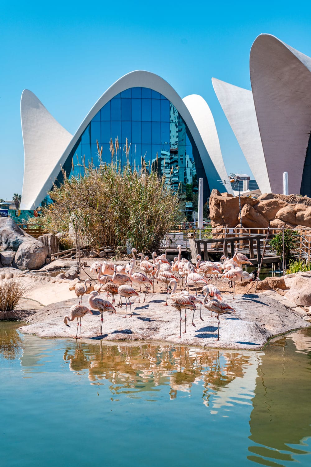
[[271,189],[300,193],[311,130],[311,58],[273,35],[259,35],[250,51],[250,79]]

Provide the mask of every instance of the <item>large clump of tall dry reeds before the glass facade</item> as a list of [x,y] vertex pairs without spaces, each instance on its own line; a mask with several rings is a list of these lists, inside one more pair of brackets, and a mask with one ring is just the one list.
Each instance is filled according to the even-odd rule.
[[[111,140],[111,163],[99,166],[84,159],[73,166],[76,176],[66,177],[49,193],[53,204],[42,212],[40,222],[59,232],[72,232],[84,246],[125,247],[130,240],[138,251],[152,251],[176,222],[178,194],[171,189],[170,176],[160,174],[158,158],[147,166],[129,163],[130,146],[120,155],[119,143]],[[121,162],[124,161],[124,162]]]

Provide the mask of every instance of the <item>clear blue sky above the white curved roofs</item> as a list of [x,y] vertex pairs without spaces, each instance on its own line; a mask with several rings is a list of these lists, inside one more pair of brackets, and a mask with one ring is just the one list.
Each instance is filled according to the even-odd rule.
[[104,91],[139,69],[159,74],[182,98],[206,99],[227,171],[250,173],[211,78],[250,89],[249,50],[261,33],[310,56],[310,2],[2,2],[0,198],[22,191],[23,89],[74,134]]

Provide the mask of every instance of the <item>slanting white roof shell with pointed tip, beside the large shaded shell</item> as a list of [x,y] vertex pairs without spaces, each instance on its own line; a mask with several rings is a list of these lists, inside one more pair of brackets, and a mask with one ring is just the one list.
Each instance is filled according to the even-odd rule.
[[252,92],[216,78],[212,78],[212,83],[260,191],[270,193],[271,186]]

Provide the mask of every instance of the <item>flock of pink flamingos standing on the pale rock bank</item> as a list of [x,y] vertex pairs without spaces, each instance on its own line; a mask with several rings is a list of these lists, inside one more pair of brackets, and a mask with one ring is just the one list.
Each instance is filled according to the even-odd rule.
[[[168,306],[169,302],[173,309],[179,311],[179,338],[181,338],[181,333],[187,332],[187,310],[193,312],[191,324],[195,326],[194,314],[197,305],[200,305],[200,319],[202,321],[202,307],[211,312],[211,317],[213,313],[215,314],[215,318],[218,320],[217,340],[219,340],[220,316],[224,313],[235,312],[235,310],[223,301],[221,291],[217,288],[217,278],[221,277],[228,280],[230,293],[233,286],[234,299],[235,282],[255,280],[257,271],[255,269],[251,274],[243,271],[242,266],[244,264],[252,263],[245,255],[239,253],[237,248],[232,258],[222,256],[220,262],[202,261],[201,256],[197,255],[195,265],[187,259],[181,258],[181,245],[178,246],[178,250],[178,256],[173,259],[173,262],[166,258],[166,255],[157,255],[156,252],[152,253],[152,260],[149,260],[149,257],[144,256],[143,253],[137,253],[136,248],[131,249],[132,258],[126,265],[106,261],[94,262],[90,267],[90,272],[97,274],[98,285],[96,285],[97,290],[91,291],[89,294],[90,308],[82,305],[82,297],[87,293],[91,285],[90,280],[87,279],[83,284],[76,284],[75,293],[79,304],[73,305],[69,310],[69,316],[64,317],[64,324],[67,326],[69,326],[68,321],[77,319],[77,331],[74,338],[78,339],[77,334],[80,324],[80,339],[82,339],[81,318],[89,312],[94,314],[91,309],[100,312],[99,335],[102,335],[104,311],[110,311],[110,314],[115,313],[117,315],[115,308],[116,295],[120,297],[117,307],[122,308],[123,298],[125,299],[125,316],[123,318],[128,316],[128,306],[130,307],[129,316],[132,317],[131,299],[138,297],[138,303],[140,303],[143,286],[143,302],[145,302],[146,295],[151,293],[151,289],[154,291],[154,282],[157,282],[161,283],[161,287],[165,286],[165,306]],[[140,272],[134,272],[137,261],[139,261]],[[212,284],[213,277],[215,278],[215,285]],[[139,286],[139,293],[134,289],[134,286]],[[177,290],[178,287],[180,287],[180,291]],[[195,288],[195,295],[189,292],[189,287]],[[198,298],[198,289],[202,290],[203,300]],[[106,300],[98,297],[101,292],[107,294]],[[108,300],[109,296],[112,298],[112,303]],[[185,313],[185,328],[181,332],[182,311]]]

